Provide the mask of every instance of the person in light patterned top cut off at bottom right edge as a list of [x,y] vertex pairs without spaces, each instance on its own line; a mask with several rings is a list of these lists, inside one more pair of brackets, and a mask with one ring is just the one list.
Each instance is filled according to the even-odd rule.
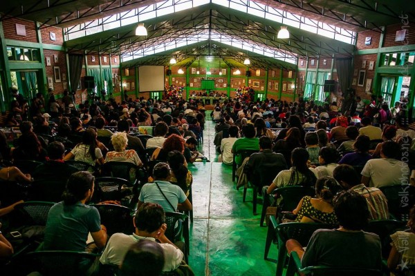
[[392,248],[387,259],[387,266],[391,270],[402,269],[400,264],[405,266],[415,265],[415,206],[409,211],[409,230],[397,231],[391,235]]

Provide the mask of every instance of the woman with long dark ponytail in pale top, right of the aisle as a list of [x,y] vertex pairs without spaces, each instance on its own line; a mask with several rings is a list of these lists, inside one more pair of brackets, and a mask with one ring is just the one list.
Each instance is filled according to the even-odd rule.
[[277,177],[275,177],[273,184],[266,190],[266,193],[270,195],[276,188],[284,186],[315,186],[317,178],[313,171],[307,166],[309,158],[310,156],[305,148],[295,148],[295,150],[291,152],[291,168],[279,172]]

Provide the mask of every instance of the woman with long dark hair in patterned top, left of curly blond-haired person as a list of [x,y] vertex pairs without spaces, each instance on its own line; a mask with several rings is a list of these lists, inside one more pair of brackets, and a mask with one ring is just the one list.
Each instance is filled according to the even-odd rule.
[[104,164],[104,157],[98,146],[97,132],[88,128],[82,133],[82,142],[65,155],[64,160],[75,158],[77,161],[84,161],[95,166]]

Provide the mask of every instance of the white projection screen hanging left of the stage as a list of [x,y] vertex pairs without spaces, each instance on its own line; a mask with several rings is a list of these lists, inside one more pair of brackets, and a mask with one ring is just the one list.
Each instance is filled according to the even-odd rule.
[[139,92],[164,90],[164,66],[140,66],[138,68]]

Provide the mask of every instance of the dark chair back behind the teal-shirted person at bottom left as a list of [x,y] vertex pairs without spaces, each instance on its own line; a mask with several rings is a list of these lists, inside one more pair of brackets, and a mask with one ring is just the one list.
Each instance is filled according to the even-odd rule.
[[25,255],[24,266],[44,276],[86,276],[97,257],[99,255],[76,251],[36,251]]

